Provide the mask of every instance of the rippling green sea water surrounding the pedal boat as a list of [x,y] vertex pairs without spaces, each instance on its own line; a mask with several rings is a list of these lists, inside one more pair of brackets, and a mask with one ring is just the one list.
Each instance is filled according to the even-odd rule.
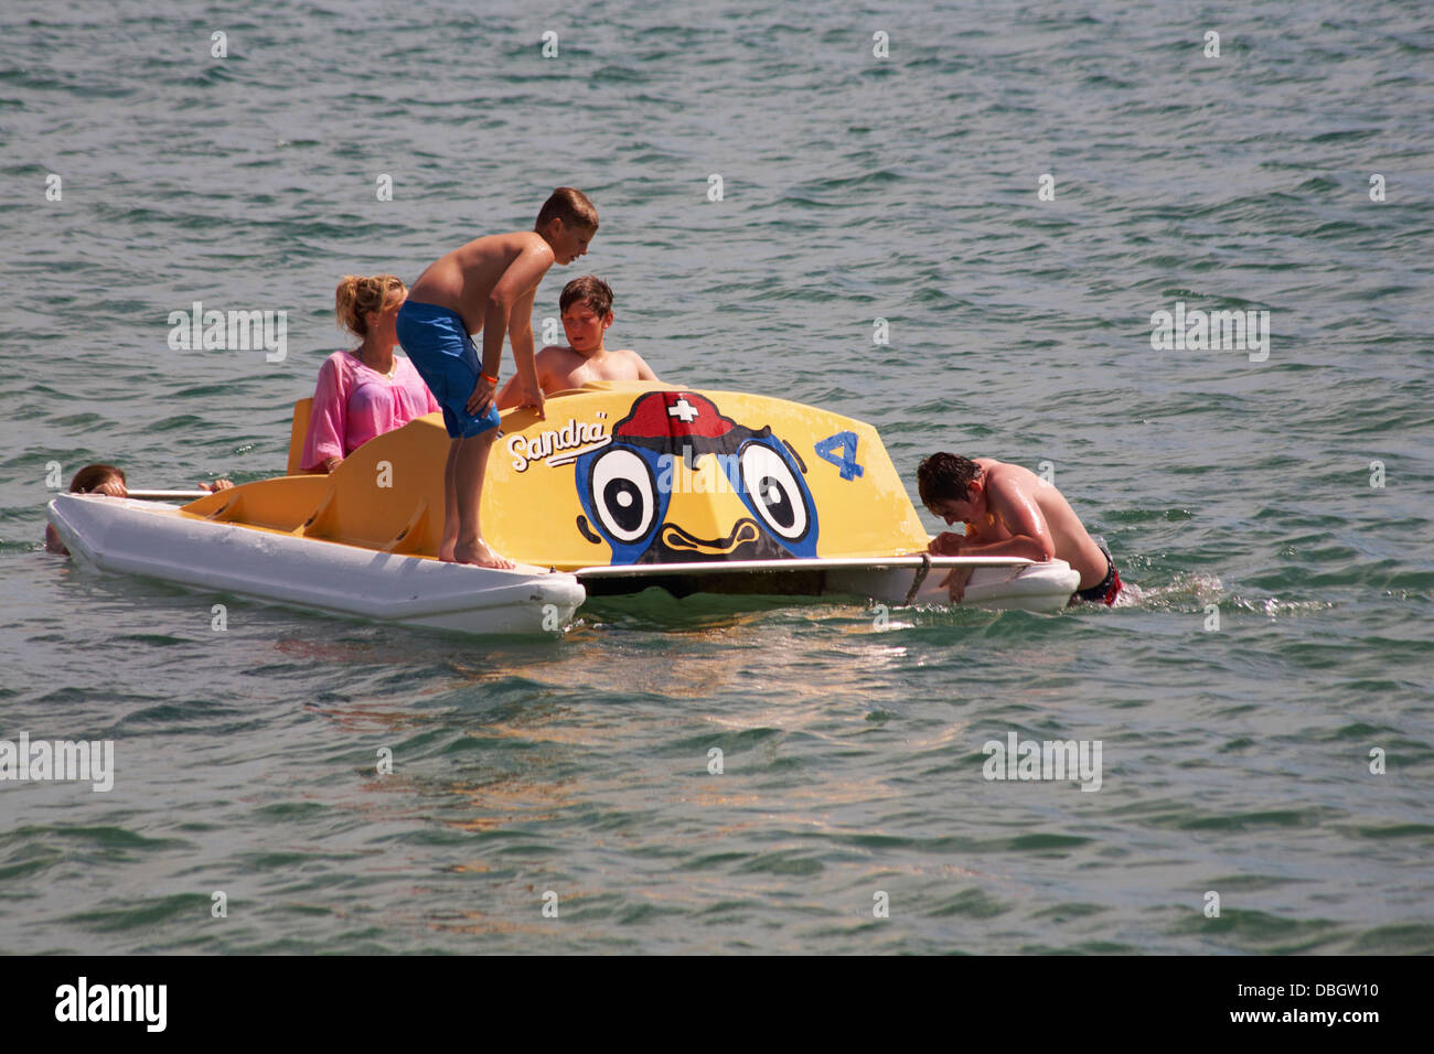
[[[0,739],[116,774],[0,782],[0,951],[1434,951],[1431,53],[1420,3],[7,6]],[[472,641],[42,551],[50,462],[278,472],[338,278],[564,184],[535,327],[592,270],[664,379],[868,420],[912,493],[1050,462],[1133,602]],[[287,357],[171,350],[195,300]],[[1152,348],[1177,303],[1268,357]],[[1100,790],[984,779],[1012,731]]]

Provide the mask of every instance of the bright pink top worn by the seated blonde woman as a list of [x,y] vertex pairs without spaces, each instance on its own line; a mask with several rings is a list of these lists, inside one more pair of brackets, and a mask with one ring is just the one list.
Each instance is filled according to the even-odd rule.
[[353,351],[334,351],[324,360],[300,459],[305,470],[328,457],[347,457],[374,436],[443,409],[413,363],[399,354],[393,363],[397,369],[390,380]]

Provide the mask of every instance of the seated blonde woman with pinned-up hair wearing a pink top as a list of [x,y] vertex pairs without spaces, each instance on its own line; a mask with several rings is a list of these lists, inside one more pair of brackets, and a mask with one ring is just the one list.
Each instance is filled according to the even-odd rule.
[[318,367],[301,466],[333,472],[374,436],[442,407],[406,357],[394,354],[399,308],[407,287],[391,274],[346,274],[334,290],[338,324],[358,338]]

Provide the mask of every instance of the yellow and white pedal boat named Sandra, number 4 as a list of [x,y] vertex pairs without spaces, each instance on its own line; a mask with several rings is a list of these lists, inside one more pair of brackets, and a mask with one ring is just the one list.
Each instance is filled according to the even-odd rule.
[[688,594],[1057,611],[1063,561],[928,556],[906,488],[870,424],[800,403],[661,383],[599,383],[508,410],[483,488],[489,543],[513,571],[445,564],[439,414],[303,475],[310,400],[294,407],[288,475],[185,505],[59,495],[70,552],[298,608],[466,632],[555,632],[587,597]]

